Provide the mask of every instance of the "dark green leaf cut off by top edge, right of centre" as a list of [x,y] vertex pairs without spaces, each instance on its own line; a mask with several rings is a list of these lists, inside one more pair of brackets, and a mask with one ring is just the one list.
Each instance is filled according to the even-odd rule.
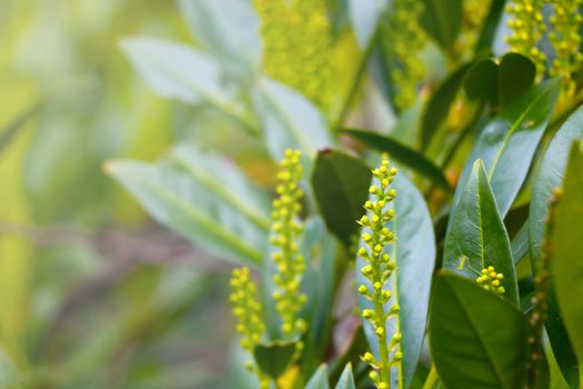
[[451,52],[462,29],[461,0],[423,0],[421,26],[445,52]]

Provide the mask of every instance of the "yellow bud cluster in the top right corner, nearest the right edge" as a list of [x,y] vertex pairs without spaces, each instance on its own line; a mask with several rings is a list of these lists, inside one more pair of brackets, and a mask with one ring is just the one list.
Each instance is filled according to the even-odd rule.
[[555,59],[551,68],[551,76],[563,79],[564,97],[572,97],[575,91],[575,82],[571,76],[583,62],[583,54],[579,52],[581,46],[580,28],[583,17],[579,13],[579,7],[583,0],[552,0],[553,14],[550,17],[553,31],[549,33],[549,40],[553,44]]

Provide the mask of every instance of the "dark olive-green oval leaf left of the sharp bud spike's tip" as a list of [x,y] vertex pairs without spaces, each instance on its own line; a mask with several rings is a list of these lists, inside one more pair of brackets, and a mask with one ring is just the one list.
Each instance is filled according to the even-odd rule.
[[318,153],[312,189],[328,228],[346,247],[358,231],[355,221],[364,215],[371,178],[371,170],[358,158],[330,149]]

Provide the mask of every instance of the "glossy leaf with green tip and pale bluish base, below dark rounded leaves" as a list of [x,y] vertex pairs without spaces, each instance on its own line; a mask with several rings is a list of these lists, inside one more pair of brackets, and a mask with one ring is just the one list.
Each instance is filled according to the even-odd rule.
[[500,215],[505,217],[529,172],[539,141],[553,112],[559,89],[557,79],[543,82],[504,107],[500,116],[487,123],[462,171],[452,215],[455,213],[474,161],[481,159]]

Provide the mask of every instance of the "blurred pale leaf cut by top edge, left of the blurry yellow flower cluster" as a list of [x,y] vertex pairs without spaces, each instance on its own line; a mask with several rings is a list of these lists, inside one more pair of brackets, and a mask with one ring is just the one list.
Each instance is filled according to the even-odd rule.
[[259,19],[247,0],[180,0],[197,42],[233,71],[253,72],[261,58]]

